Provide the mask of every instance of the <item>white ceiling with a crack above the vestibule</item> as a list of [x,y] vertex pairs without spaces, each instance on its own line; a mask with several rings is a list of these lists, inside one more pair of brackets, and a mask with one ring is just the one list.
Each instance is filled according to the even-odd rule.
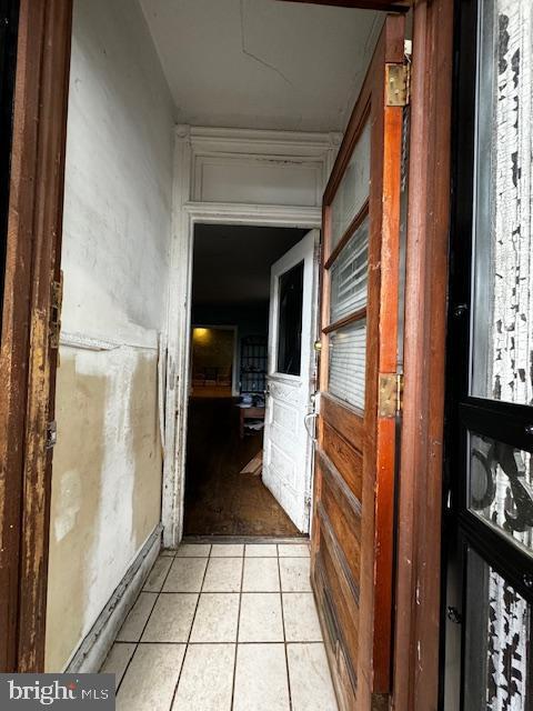
[[140,0],[193,126],[345,128],[383,16],[278,0]]

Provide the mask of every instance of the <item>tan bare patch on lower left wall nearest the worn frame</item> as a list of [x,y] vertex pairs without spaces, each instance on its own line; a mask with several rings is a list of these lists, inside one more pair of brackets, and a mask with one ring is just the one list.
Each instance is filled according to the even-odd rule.
[[108,393],[104,375],[79,373],[76,357],[61,357],[46,643],[46,670],[54,672],[63,669],[83,632],[101,504]]

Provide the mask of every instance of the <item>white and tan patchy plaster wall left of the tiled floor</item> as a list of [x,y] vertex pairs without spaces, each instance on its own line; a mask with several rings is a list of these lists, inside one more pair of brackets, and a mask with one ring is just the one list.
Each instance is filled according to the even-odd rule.
[[74,0],[47,670],[160,520],[173,104],[137,0]]

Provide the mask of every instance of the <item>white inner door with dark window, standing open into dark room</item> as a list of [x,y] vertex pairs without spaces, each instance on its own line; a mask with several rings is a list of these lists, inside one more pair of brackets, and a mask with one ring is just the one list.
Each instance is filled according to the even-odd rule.
[[315,389],[316,262],[312,230],[271,269],[263,482],[309,531],[312,441],[305,430]]

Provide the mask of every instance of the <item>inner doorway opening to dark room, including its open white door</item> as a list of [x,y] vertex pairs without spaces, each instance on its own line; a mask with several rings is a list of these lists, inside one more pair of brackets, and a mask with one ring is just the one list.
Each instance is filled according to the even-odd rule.
[[318,233],[306,234],[298,228],[194,227],[188,537],[308,531],[312,440],[303,420],[315,375]]

